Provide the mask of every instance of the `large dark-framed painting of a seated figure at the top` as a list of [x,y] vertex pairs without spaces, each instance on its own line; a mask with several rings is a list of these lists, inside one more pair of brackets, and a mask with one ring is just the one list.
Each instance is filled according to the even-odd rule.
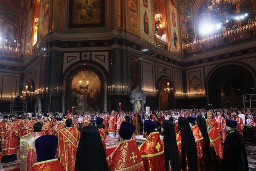
[[105,0],[69,0],[68,28],[105,27]]

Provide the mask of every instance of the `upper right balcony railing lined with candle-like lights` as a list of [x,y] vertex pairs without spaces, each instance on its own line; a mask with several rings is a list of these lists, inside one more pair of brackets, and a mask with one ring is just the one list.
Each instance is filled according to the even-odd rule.
[[253,38],[256,36],[256,24],[243,26],[239,29],[233,29],[223,34],[214,35],[193,43],[185,45],[185,53],[204,52],[206,49],[226,46],[227,44]]

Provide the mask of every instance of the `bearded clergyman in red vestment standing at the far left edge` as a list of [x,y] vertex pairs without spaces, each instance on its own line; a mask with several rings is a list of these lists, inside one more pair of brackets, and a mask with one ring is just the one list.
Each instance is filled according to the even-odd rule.
[[1,163],[13,162],[17,159],[19,127],[15,115],[9,115],[9,120],[1,129],[2,137],[2,160]]

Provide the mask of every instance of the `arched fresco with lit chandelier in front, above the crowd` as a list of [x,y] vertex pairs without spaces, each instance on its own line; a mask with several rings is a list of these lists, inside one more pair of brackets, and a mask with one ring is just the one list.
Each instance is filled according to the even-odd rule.
[[100,109],[100,79],[94,72],[79,72],[73,78],[71,88],[70,104],[76,112]]

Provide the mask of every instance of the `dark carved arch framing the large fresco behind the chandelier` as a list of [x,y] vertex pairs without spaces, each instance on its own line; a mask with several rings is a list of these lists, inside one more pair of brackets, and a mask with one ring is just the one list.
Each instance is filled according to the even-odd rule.
[[62,111],[65,111],[68,104],[67,98],[70,97],[70,85],[74,76],[84,70],[90,70],[97,74],[101,81],[101,94],[103,98],[102,109],[107,110],[107,72],[102,69],[103,67],[91,62],[81,62],[69,67],[65,73],[62,82]]

